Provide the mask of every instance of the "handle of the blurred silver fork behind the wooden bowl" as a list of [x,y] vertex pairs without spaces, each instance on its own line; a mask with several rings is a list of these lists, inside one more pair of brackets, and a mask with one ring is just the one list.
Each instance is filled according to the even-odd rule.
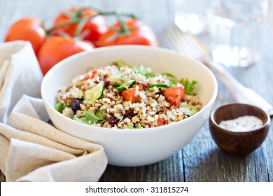
[[260,97],[254,90],[239,83],[221,64],[214,62],[212,59],[206,59],[203,63],[218,76],[218,79],[220,79],[223,85],[230,91],[230,94],[236,102],[259,106],[270,116],[273,115],[273,106]]

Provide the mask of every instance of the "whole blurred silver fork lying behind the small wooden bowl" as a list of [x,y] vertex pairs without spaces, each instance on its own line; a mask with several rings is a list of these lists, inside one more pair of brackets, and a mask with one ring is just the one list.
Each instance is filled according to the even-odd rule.
[[179,27],[174,26],[167,31],[167,38],[172,49],[188,57],[200,60],[208,66],[229,90],[236,102],[259,106],[269,116],[273,116],[273,106],[252,89],[241,85],[221,64],[214,62],[207,48],[195,36],[183,32]]

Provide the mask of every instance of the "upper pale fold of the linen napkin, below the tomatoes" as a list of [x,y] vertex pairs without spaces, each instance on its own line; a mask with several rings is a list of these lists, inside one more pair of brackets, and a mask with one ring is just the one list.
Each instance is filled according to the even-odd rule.
[[10,111],[22,94],[40,97],[42,73],[30,43],[15,41],[0,45],[0,122],[6,123]]

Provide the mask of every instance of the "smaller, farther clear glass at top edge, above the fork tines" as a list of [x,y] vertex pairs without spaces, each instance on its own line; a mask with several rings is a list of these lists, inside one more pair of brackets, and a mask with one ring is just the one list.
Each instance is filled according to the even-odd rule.
[[209,0],[174,0],[175,23],[182,30],[200,35],[207,31]]

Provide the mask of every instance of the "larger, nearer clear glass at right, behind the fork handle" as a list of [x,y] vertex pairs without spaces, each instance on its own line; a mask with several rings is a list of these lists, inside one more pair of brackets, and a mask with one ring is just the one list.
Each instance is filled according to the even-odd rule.
[[260,58],[269,0],[214,0],[209,6],[209,34],[214,61],[250,66]]

